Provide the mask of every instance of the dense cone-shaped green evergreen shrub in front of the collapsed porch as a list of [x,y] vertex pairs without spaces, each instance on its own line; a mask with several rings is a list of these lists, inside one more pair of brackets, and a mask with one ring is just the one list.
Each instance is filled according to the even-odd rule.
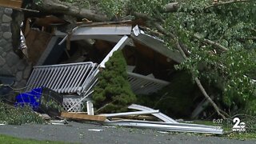
[[116,51],[106,62],[106,69],[99,75],[98,84],[94,87],[94,106],[104,106],[101,112],[105,113],[125,111],[128,105],[136,101],[127,78],[126,60],[122,51]]

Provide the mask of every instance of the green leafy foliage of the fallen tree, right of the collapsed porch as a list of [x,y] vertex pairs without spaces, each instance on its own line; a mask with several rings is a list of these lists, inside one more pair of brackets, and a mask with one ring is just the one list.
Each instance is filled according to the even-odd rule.
[[[256,1],[175,2],[179,8],[171,13],[163,13],[170,3],[167,0],[102,0],[102,9],[112,15],[121,14],[120,11],[124,15],[147,14],[186,45],[190,55],[178,69],[190,70],[194,77],[204,77],[218,85],[226,106],[240,106],[256,114],[256,106],[251,104],[256,101],[252,79],[256,77]],[[166,35],[163,38],[170,48],[175,48],[171,38]]]

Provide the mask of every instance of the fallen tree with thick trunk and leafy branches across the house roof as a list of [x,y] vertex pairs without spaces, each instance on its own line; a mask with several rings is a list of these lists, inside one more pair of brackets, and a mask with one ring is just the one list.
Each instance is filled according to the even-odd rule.
[[146,26],[163,35],[166,45],[180,51],[186,60],[177,68],[190,71],[194,82],[218,115],[222,118],[227,116],[209,97],[200,78],[206,78],[210,85],[219,87],[221,96],[216,95],[218,98],[214,99],[224,102],[226,112],[235,114],[243,110],[256,114],[255,82],[252,80],[256,66],[255,1],[82,2],[88,2],[90,9],[58,0],[35,0],[31,8],[94,22],[122,20],[127,15],[143,19]]

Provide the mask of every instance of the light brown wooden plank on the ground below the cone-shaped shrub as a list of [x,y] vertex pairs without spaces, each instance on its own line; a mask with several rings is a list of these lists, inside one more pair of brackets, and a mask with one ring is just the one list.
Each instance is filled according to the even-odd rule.
[[88,114],[81,114],[81,113],[80,114],[79,113],[70,113],[70,112],[62,112],[61,117],[70,118],[70,119],[101,121],[101,122],[104,122],[106,120],[105,116],[88,115]]

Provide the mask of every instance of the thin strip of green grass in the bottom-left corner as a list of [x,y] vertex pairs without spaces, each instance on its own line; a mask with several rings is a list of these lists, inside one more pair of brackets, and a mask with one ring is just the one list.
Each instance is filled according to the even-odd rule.
[[45,144],[45,143],[64,143],[64,142],[51,142],[51,141],[37,141],[37,140],[33,140],[33,139],[25,139],[25,138],[14,138],[14,137],[10,137],[10,136],[7,136],[7,135],[1,135],[0,134],[0,143],[2,144],[10,144],[10,143],[17,143],[17,144],[37,144],[37,143],[40,143],[40,144]]

